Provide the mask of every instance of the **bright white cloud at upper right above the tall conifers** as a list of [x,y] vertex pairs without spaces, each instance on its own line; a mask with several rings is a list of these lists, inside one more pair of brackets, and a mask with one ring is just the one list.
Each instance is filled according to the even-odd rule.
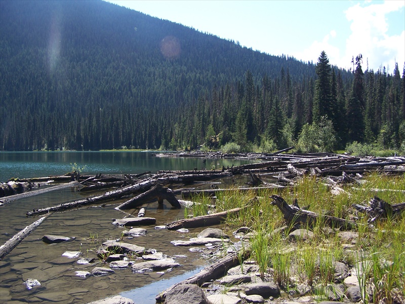
[[[363,55],[369,59],[370,68],[389,66],[392,72],[394,60],[402,66],[405,60],[405,30],[400,34],[388,34],[387,14],[405,6],[404,1],[385,1],[365,7],[356,4],[345,11],[351,34],[346,40],[342,62],[350,62],[352,56]],[[366,62],[364,62],[365,65]]]

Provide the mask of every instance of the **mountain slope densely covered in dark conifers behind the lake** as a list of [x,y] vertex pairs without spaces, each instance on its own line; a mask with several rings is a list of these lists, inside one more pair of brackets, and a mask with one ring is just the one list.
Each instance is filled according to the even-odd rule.
[[[101,1],[2,0],[0,55],[0,150],[194,149],[263,139],[282,146],[320,118],[312,110],[319,103],[314,64]],[[329,119],[344,143],[349,126],[336,122],[355,77],[326,68],[335,88],[328,102],[336,105]],[[382,121],[370,126],[369,137],[365,126],[358,139],[376,139],[386,126],[392,127],[389,143],[398,144],[399,71],[372,73],[373,90],[383,82],[376,91],[381,104],[398,76],[399,85],[392,89],[393,109],[373,108],[370,115]],[[387,115],[394,125],[386,124]],[[219,141],[209,143],[217,134]]]

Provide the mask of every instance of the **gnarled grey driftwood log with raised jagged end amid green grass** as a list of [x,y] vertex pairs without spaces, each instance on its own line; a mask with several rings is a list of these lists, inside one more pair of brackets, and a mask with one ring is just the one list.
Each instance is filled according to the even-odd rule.
[[289,205],[278,195],[272,195],[270,198],[273,200],[272,205],[276,205],[278,209],[280,209],[284,219],[293,225],[308,224],[309,226],[312,226],[319,218],[321,218],[327,225],[341,230],[352,230],[357,226],[352,220],[329,215],[319,215],[315,212],[301,209],[296,201],[294,205]]

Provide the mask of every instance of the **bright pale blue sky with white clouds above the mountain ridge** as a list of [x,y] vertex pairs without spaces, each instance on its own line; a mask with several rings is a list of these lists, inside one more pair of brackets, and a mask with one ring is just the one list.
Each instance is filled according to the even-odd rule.
[[405,63],[405,0],[389,1],[155,1],[109,0],[239,42],[270,55],[317,62],[324,50],[333,65],[349,69],[362,54],[363,70]]

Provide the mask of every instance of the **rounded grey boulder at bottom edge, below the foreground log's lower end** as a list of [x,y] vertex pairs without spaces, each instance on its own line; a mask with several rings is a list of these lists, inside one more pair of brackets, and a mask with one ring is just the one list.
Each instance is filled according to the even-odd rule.
[[210,304],[210,301],[205,295],[203,289],[197,285],[182,284],[168,291],[165,299],[165,304],[179,303]]

